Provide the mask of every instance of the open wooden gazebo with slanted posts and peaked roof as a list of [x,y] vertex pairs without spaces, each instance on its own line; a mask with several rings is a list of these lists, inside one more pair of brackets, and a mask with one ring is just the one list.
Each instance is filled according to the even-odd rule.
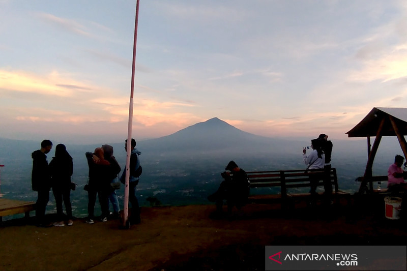
[[[372,192],[372,165],[383,136],[397,136],[404,157],[407,158],[407,142],[404,138],[404,135],[407,135],[407,108],[373,107],[362,121],[346,134],[348,137],[367,137],[368,160],[359,193],[364,193],[367,182],[369,192]],[[373,146],[370,144],[371,136],[375,136]]]

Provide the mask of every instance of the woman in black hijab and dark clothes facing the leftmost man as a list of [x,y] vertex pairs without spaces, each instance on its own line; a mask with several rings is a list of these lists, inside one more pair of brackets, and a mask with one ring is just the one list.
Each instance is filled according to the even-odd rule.
[[71,226],[72,205],[71,205],[71,176],[73,173],[72,157],[67,152],[64,144],[57,144],[55,147],[55,156],[49,162],[49,172],[52,181],[52,192],[55,197],[57,221],[54,226],[63,227],[64,213],[62,212],[62,201],[64,200],[67,212],[67,225]]

